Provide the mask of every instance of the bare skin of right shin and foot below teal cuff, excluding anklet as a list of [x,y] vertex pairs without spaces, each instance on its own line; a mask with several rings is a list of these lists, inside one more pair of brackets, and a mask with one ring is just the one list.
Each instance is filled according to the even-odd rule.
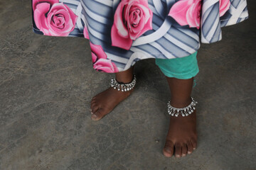
[[[176,79],[166,77],[171,90],[171,106],[184,108],[191,103],[193,78]],[[169,132],[163,149],[164,156],[185,157],[196,149],[196,111],[191,115],[178,117],[170,115]]]

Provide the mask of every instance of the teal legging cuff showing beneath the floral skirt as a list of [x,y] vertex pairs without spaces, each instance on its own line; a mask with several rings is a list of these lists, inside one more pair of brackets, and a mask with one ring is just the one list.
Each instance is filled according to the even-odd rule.
[[181,58],[156,58],[155,62],[166,77],[174,77],[176,79],[191,79],[199,72],[196,55],[197,52]]

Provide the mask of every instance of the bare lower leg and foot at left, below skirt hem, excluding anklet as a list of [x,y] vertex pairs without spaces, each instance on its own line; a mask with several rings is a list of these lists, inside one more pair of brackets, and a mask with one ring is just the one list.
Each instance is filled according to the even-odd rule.
[[[115,73],[117,81],[123,83],[131,82],[133,78],[133,70],[134,66],[124,72]],[[100,120],[110,113],[117,104],[132,94],[132,91],[134,91],[134,89],[130,91],[118,91],[110,86],[105,91],[94,96],[91,101],[92,120]]]

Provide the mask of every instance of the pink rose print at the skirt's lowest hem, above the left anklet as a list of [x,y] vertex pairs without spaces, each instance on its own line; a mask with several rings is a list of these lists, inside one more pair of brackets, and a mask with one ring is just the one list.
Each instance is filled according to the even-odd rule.
[[107,55],[101,45],[94,45],[90,42],[90,47],[92,50],[92,62],[94,69],[107,73],[119,72],[116,64],[107,59]]

